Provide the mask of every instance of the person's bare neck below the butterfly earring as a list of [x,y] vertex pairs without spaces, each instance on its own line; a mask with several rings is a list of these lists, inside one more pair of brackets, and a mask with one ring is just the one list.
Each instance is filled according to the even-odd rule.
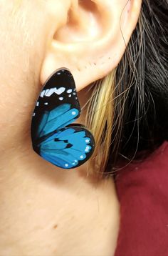
[[1,255],[115,251],[119,203],[112,178],[58,169],[31,147],[18,148],[1,165],[0,197]]

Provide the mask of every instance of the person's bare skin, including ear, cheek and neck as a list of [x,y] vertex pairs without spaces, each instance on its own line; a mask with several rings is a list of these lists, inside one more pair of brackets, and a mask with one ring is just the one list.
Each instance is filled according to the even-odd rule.
[[0,0],[3,256],[115,252],[120,204],[113,179],[88,176],[87,163],[67,171],[41,159],[30,127],[42,84],[54,70],[70,69],[83,105],[88,84],[116,67],[140,13],[141,1],[128,2],[122,12],[126,3],[32,0],[14,11],[14,1]]

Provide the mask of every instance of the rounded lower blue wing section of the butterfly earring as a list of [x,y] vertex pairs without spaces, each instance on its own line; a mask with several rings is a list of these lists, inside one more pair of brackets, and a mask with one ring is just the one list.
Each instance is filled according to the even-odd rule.
[[83,127],[67,127],[44,139],[39,145],[40,155],[58,167],[71,169],[90,158],[94,139]]

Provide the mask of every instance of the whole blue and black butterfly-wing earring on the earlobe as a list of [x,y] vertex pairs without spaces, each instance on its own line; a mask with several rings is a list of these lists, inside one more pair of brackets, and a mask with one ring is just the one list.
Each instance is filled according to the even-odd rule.
[[51,74],[36,102],[31,122],[33,149],[43,159],[71,169],[86,162],[93,154],[93,135],[82,124],[80,104],[73,75],[61,68]]

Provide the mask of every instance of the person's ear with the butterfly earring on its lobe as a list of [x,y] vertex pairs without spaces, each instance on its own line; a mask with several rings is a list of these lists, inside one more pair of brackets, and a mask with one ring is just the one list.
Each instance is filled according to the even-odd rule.
[[[41,83],[60,67],[72,72],[77,90],[105,77],[120,62],[135,29],[141,0],[74,0],[47,44]],[[53,9],[57,1],[51,1]],[[67,5],[66,5],[67,7]],[[65,9],[64,9],[65,11]],[[57,16],[55,17],[57,19]]]

